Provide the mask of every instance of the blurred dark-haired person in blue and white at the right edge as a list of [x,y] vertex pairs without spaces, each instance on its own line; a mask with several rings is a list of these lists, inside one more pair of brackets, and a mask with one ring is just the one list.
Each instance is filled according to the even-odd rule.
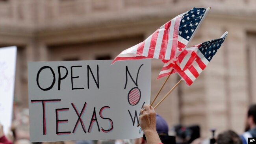
[[245,133],[241,136],[243,144],[248,144],[249,137],[256,137],[256,104],[250,105],[247,112]]

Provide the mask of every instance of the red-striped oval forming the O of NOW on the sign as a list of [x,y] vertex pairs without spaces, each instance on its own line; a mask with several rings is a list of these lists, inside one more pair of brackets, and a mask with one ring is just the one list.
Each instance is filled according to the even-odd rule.
[[128,93],[128,102],[130,105],[137,105],[141,99],[141,90],[138,87],[132,88]]

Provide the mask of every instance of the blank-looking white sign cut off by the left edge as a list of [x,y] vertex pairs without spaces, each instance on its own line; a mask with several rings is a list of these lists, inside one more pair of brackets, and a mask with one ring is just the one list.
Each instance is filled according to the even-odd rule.
[[0,48],[0,124],[11,128],[17,47]]

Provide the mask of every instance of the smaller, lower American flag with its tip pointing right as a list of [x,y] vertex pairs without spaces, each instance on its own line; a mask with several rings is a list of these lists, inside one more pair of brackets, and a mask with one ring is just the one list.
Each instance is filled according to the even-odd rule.
[[184,50],[180,56],[181,60],[173,65],[180,77],[191,85],[199,74],[206,68],[208,63],[221,47],[228,32],[225,32],[220,39],[203,42],[191,48]]

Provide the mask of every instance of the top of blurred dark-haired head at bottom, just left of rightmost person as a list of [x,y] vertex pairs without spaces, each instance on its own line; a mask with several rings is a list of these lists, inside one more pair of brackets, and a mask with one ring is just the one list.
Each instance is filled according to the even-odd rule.
[[234,131],[228,130],[218,135],[217,144],[242,144],[242,140]]

